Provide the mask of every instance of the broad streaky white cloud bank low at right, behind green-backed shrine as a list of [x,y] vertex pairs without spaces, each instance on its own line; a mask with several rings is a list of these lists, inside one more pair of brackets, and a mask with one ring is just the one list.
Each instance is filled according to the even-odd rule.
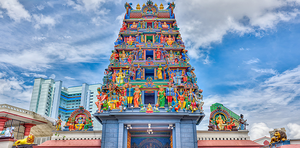
[[[268,124],[270,128],[277,128],[286,127],[289,122],[298,122],[299,118],[295,117],[298,117],[298,112],[300,112],[299,98],[300,66],[276,74],[252,88],[240,88],[228,94],[204,96],[203,100],[206,105],[203,108],[206,113],[209,113],[209,106],[219,102],[236,114],[244,114],[244,118],[251,125],[248,128],[250,130],[252,127],[265,128],[260,122]],[[274,118],[280,120],[274,122]],[[207,124],[208,117],[205,117],[201,127],[198,128],[207,130]],[[289,126],[294,127],[295,125],[290,124]],[[258,138],[261,136],[259,135]],[[255,136],[251,137],[252,140],[255,138]]]

